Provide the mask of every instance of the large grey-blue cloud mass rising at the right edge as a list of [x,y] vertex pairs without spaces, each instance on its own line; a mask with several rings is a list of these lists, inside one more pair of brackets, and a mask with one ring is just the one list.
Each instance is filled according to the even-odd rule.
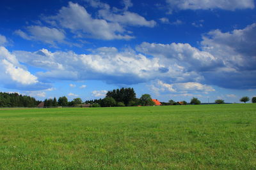
[[[230,32],[210,31],[203,37],[202,49],[225,64],[223,69],[204,73],[207,83],[236,89],[255,89],[256,24]],[[227,83],[228,82],[228,83]]]

